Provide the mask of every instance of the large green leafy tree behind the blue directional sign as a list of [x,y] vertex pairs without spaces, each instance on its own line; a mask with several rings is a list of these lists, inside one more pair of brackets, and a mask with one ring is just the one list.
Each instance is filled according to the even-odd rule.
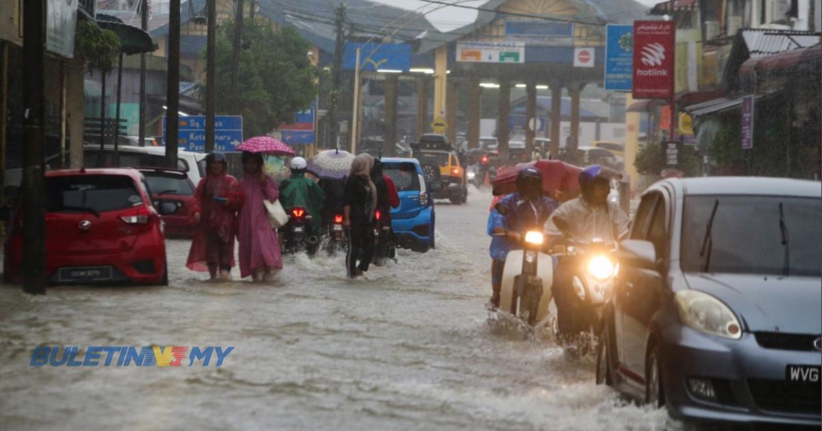
[[[307,53],[311,44],[292,27],[272,30],[251,21],[242,28],[237,90],[231,91],[233,21],[217,32],[216,111],[242,115],[243,135],[265,135],[307,108],[316,97],[316,67]],[[205,58],[205,48],[201,52]],[[205,97],[205,92],[201,92]]]

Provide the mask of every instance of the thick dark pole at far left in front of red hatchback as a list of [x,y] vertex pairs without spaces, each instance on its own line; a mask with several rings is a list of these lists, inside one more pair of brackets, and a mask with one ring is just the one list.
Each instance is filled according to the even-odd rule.
[[46,292],[44,140],[45,1],[23,8],[23,291]]

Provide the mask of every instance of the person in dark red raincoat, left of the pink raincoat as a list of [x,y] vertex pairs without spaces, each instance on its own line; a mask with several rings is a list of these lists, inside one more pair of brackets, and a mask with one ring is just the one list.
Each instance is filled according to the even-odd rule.
[[214,152],[205,156],[205,178],[194,194],[197,224],[188,252],[187,268],[208,270],[212,280],[228,280],[234,266],[234,238],[237,236],[237,212],[243,196],[237,178],[226,173],[229,167],[225,154]]

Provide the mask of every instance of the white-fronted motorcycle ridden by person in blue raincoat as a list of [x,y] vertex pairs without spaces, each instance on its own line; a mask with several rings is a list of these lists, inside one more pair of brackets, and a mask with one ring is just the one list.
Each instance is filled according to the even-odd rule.
[[[495,234],[505,236],[506,234]],[[517,234],[520,250],[511,250],[502,272],[500,309],[535,328],[547,321],[551,303],[553,259],[543,253],[543,232]]]

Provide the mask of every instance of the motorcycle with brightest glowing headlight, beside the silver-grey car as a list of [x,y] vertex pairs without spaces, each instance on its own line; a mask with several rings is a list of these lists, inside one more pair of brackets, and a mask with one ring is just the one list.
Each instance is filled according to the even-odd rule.
[[570,296],[567,301],[570,309],[562,314],[563,319],[569,319],[572,330],[562,335],[564,342],[579,338],[580,334],[586,334],[592,342],[596,340],[604,305],[611,298],[614,279],[619,273],[613,252],[613,245],[594,238],[589,243],[570,241],[565,253],[556,254],[560,264],[571,268],[572,274],[572,289],[566,291]]

